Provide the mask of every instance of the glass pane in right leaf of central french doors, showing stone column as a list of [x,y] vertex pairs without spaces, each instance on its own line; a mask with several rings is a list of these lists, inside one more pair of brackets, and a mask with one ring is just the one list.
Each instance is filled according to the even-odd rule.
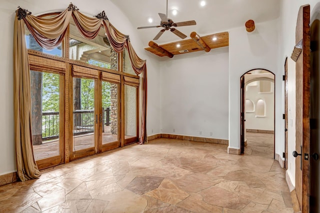
[[102,144],[118,141],[118,84],[102,81]]

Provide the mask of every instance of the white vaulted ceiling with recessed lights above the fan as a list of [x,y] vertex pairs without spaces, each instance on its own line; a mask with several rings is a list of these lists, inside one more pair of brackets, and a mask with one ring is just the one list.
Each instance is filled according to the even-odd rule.
[[[111,0],[131,21],[133,27],[158,25],[158,12],[166,13],[166,0]],[[168,18],[174,22],[195,20],[194,26],[176,27],[187,35],[196,31],[200,36],[228,31],[230,28],[243,26],[248,19],[256,23],[276,19],[279,16],[280,0],[205,0],[206,5],[200,6],[201,0],[168,0]],[[172,15],[177,9],[177,15]],[[148,18],[153,22],[149,23]],[[136,29],[143,45],[158,33],[162,27]],[[165,31],[155,42],[158,44],[181,40],[170,31]]]

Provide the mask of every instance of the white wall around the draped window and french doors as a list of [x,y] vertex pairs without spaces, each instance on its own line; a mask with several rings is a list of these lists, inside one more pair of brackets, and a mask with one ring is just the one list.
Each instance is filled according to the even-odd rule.
[[[160,83],[157,82],[159,74],[156,70],[157,63],[145,53],[142,43],[136,35],[136,29],[130,24],[123,13],[109,0],[94,0],[95,3],[87,1],[75,1],[80,12],[88,15],[96,15],[105,10],[110,22],[122,33],[130,35],[130,41],[138,56],[147,59],[149,95],[148,95],[148,114],[147,129],[154,129],[156,133],[160,132]],[[69,4],[69,1],[39,1],[39,0],[1,0],[0,6],[0,28],[2,29],[0,39],[0,175],[16,171],[15,168],[15,150],[14,150],[14,119],[13,119],[13,22],[17,6],[28,9],[32,14],[46,13],[49,11],[62,11]],[[153,83],[152,83],[153,82]],[[141,96],[140,96],[141,97]],[[154,109],[154,108],[155,109]]]

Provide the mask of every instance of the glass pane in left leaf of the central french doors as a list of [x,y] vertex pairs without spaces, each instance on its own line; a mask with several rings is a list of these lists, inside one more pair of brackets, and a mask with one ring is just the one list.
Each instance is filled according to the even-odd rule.
[[94,80],[73,78],[73,151],[94,147]]

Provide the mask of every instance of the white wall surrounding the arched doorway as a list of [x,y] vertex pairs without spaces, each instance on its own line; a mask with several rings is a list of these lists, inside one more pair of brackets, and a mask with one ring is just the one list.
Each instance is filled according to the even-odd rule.
[[[275,152],[284,150],[277,135],[281,129],[282,70],[278,69],[279,20],[255,23],[255,30],[245,27],[229,30],[229,148],[240,148],[240,77],[252,69],[267,69],[275,74]],[[283,144],[283,148],[282,148]]]

